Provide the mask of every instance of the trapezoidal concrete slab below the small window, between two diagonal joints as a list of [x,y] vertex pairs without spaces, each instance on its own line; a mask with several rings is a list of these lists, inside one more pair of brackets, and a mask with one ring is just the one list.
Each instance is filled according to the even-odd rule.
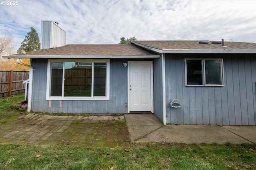
[[246,139],[220,126],[166,125],[137,142],[167,143],[248,143]]

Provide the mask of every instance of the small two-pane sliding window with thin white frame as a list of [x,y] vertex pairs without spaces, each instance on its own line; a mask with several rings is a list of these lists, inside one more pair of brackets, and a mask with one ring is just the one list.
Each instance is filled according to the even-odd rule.
[[[219,61],[218,67],[216,68],[218,74],[216,72],[212,72],[208,74],[212,69],[206,68],[206,61],[216,60]],[[198,66],[198,69],[195,69],[196,66],[192,65],[188,68],[188,61],[198,61],[194,65]],[[224,86],[224,70],[223,70],[223,59],[185,59],[185,85],[186,86]],[[193,72],[191,71],[193,70]],[[214,75],[213,75],[214,74]],[[206,77],[207,76],[207,77]],[[214,79],[212,82],[209,80],[210,78]],[[216,78],[216,76],[218,78]],[[207,80],[208,79],[208,80]]]

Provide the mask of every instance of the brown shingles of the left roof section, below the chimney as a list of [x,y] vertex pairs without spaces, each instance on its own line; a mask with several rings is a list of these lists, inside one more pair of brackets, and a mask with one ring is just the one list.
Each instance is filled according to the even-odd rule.
[[[58,57],[160,57],[160,55],[148,51],[142,47],[134,44],[106,44],[106,45],[66,45],[63,47],[56,47],[52,49],[41,49],[38,51],[31,51],[24,55],[12,55],[8,58],[54,58]],[[34,56],[34,57],[33,57]],[[37,57],[36,57],[37,56]],[[7,58],[7,57],[5,57]]]

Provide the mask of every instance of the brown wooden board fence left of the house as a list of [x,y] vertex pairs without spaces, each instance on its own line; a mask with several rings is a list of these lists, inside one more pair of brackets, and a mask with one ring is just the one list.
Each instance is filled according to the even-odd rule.
[[29,78],[29,71],[0,70],[0,97],[25,92],[22,82]]

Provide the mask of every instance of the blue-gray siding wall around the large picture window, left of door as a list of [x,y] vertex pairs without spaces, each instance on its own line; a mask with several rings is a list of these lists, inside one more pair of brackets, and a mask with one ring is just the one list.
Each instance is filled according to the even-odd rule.
[[[47,59],[32,59],[34,67],[32,89],[32,111],[48,113],[127,113],[127,70],[122,63],[139,59],[110,59],[109,101],[62,101],[52,100],[51,107],[46,100]],[[144,61],[147,59],[143,59]]]

